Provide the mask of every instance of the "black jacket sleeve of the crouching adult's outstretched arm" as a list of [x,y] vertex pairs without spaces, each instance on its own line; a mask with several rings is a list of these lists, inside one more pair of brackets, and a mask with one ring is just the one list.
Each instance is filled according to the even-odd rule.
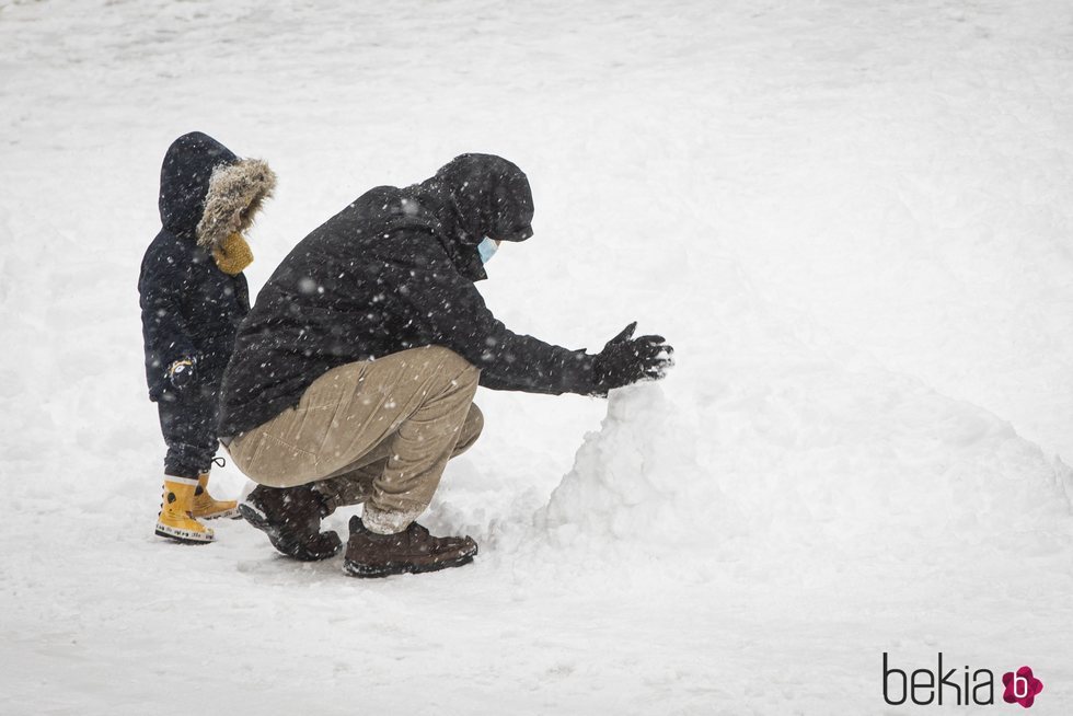
[[425,343],[450,348],[481,369],[481,385],[527,393],[596,394],[592,356],[509,331],[472,281],[439,263],[407,272],[400,298]]

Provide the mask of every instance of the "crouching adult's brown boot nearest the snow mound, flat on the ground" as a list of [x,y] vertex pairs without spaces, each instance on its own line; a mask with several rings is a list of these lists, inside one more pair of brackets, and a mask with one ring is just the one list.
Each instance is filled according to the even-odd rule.
[[351,577],[386,577],[436,571],[473,562],[477,543],[470,538],[434,538],[417,522],[397,534],[370,532],[361,518],[350,518],[343,571]]

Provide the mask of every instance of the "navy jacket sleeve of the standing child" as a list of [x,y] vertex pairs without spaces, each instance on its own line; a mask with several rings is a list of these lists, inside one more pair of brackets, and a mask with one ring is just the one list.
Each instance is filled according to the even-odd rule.
[[183,319],[185,265],[149,253],[141,266],[141,331],[146,342],[146,376],[153,400],[164,390],[168,367],[196,355]]

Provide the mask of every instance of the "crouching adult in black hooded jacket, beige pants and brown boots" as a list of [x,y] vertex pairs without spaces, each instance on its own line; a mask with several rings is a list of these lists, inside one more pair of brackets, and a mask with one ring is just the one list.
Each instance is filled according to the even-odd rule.
[[481,435],[477,385],[607,395],[660,378],[670,346],[627,327],[597,355],[511,333],[474,286],[501,242],[532,235],[517,166],[463,154],[431,178],[382,186],[302,240],[243,323],[221,397],[220,435],[259,485],[239,506],[277,550],[337,553],[322,518],[350,520],[344,570],[380,577],[470,562],[470,538],[415,520],[450,458]]

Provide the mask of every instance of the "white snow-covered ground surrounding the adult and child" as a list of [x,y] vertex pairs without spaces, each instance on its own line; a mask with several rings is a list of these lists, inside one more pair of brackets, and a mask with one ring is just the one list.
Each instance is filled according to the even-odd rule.
[[[0,713],[911,711],[885,651],[1069,713],[1071,48],[1063,0],[0,1]],[[496,313],[679,365],[481,391],[427,518],[463,569],[164,543],[136,280],[192,129],[279,174],[254,289],[367,188],[499,153],[536,235]]]

